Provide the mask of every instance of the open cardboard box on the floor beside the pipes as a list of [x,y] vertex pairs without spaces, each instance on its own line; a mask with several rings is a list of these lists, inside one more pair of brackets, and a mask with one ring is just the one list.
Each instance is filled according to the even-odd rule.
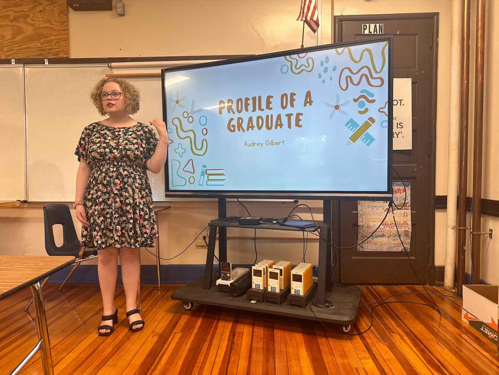
[[498,345],[497,285],[463,285],[461,319]]

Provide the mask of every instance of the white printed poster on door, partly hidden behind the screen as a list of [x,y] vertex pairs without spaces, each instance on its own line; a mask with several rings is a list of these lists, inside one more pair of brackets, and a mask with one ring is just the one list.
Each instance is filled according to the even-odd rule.
[[393,149],[412,148],[411,78],[393,79]]

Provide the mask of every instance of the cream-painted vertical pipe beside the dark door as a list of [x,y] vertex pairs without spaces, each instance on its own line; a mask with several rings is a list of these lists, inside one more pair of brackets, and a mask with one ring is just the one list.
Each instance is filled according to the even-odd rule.
[[456,269],[456,216],[458,206],[458,152],[461,81],[461,22],[462,0],[452,0],[451,65],[449,92],[449,164],[447,170],[447,230],[445,249],[444,288],[454,289]]

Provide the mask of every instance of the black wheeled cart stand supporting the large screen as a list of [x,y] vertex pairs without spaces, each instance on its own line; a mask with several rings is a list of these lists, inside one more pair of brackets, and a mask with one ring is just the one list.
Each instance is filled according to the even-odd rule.
[[[279,224],[260,224],[260,225],[240,225],[239,223],[228,223],[220,220],[214,220],[209,224],[210,238],[208,242],[208,251],[206,255],[205,275],[193,282],[177,289],[172,293],[172,300],[182,301],[184,308],[190,310],[193,303],[203,305],[212,305],[254,311],[260,313],[282,315],[292,318],[309,319],[317,321],[317,318],[324,323],[335,323],[343,326],[343,331],[350,331],[351,324],[355,322],[357,309],[359,307],[362,291],[356,286],[332,286],[332,246],[331,244],[331,201],[323,201],[324,220],[316,221],[319,226],[319,273],[317,278],[316,301],[320,305],[325,305],[326,300],[332,303],[330,308],[319,308],[312,305],[315,299],[308,303],[305,308],[301,306],[288,306],[287,303],[280,305],[266,303],[251,303],[246,298],[246,294],[240,297],[233,297],[232,294],[219,292],[215,281],[219,279],[219,271],[213,272],[213,263],[215,259],[215,241],[217,230],[219,236],[219,260],[227,262],[227,228],[250,228],[266,230],[286,230],[299,231],[301,229],[282,226]],[[218,201],[219,218],[227,217],[227,200],[219,198]]]

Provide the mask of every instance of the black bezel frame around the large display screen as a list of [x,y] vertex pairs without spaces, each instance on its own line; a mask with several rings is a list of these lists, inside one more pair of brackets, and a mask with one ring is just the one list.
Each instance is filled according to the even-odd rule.
[[[338,47],[353,46],[358,44],[371,44],[381,41],[388,41],[388,118],[393,119],[393,35],[383,35],[368,39],[354,41],[344,41],[340,43],[322,44],[306,48],[291,49],[254,55],[248,57],[239,57],[228,60],[205,62],[201,64],[192,64],[184,66],[175,66],[161,69],[161,97],[163,107],[163,121],[168,124],[166,117],[166,93],[165,93],[165,72],[190,70],[218,65],[235,64],[239,62],[248,62],[272,57],[281,57],[308,51],[318,51]],[[167,125],[168,126],[168,125]],[[254,199],[352,199],[352,200],[386,200],[393,196],[393,122],[388,121],[388,165],[387,165],[387,190],[386,191],[306,191],[306,190],[281,190],[281,191],[261,191],[261,190],[169,190],[169,169],[168,157],[165,163],[165,197],[171,198],[254,198]]]

